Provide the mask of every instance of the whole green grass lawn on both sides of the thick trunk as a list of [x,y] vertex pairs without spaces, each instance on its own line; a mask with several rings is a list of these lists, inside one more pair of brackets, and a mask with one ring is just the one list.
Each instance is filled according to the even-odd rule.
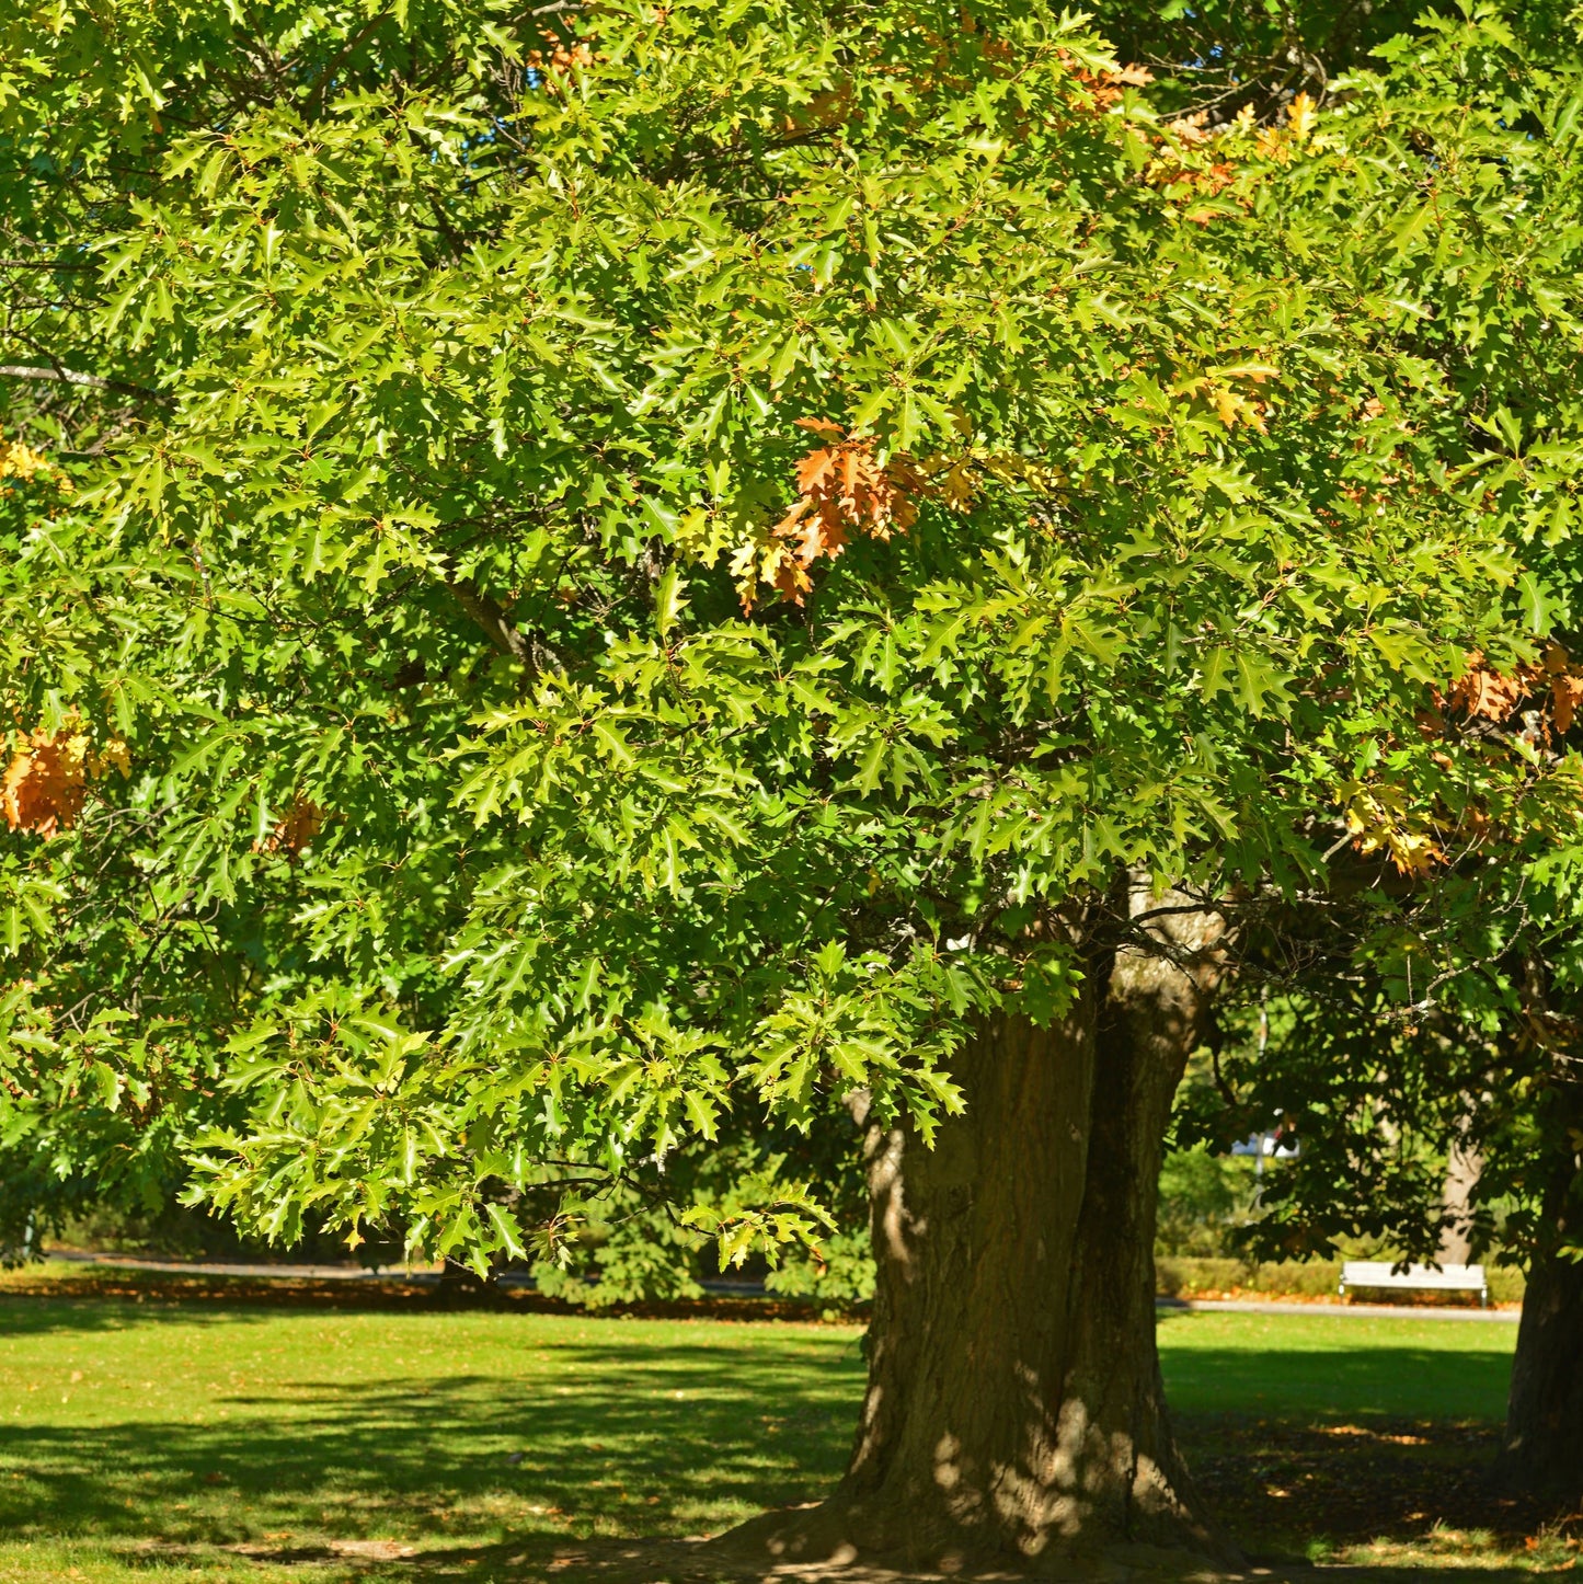
[[[1477,1533],[1425,1541],[1421,1510],[1486,1454],[1513,1337],[1162,1324],[1188,1454],[1242,1543],[1383,1562],[1513,1560]],[[0,1296],[0,1584],[540,1576],[567,1538],[811,1500],[862,1378],[841,1326]],[[1337,1508],[1348,1470],[1367,1498]]]

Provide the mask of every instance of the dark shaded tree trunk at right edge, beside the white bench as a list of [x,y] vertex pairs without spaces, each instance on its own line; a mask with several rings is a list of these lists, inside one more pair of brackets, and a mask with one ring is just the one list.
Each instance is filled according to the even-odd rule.
[[[1577,1215],[1575,1163],[1556,1171],[1545,1221],[1556,1239]],[[1575,1236],[1575,1234],[1573,1234]],[[1553,1248],[1534,1255],[1512,1361],[1502,1484],[1554,1502],[1583,1498],[1583,1262]]]

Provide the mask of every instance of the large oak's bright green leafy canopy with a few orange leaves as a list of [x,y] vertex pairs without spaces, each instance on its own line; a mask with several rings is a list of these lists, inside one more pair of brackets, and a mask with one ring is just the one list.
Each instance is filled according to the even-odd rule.
[[[1138,885],[1573,830],[1417,729],[1570,597],[1578,78],[1497,16],[1212,133],[1022,0],[6,27],[17,1180],[553,1258],[927,1133]],[[819,1236],[754,1148],[732,1258]]]

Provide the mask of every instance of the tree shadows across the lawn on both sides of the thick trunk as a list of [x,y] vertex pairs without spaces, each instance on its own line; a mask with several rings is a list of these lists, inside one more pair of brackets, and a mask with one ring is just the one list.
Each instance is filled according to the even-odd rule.
[[[33,1329],[98,1324],[92,1305],[65,1307],[73,1313],[38,1313]],[[8,1307],[5,1323],[14,1315]],[[200,1315],[204,1324],[249,1318],[149,1307],[133,1319]],[[740,1562],[672,1541],[826,1494],[845,1464],[862,1364],[856,1348],[814,1361],[708,1335],[621,1334],[608,1345],[539,1335],[539,1373],[520,1378],[349,1381],[322,1378],[304,1357],[304,1373],[319,1378],[206,1399],[230,1415],[223,1422],[0,1424],[0,1533],[109,1543],[151,1565],[208,1546],[258,1560],[345,1562],[338,1541],[387,1540],[418,1554],[368,1554],[355,1570],[469,1584],[742,1578]],[[1421,1546],[1440,1524],[1520,1543],[1539,1514],[1478,1505],[1496,1434],[1488,1403],[1504,1396],[1507,1370],[1499,1351],[1379,1346],[1193,1348],[1168,1361],[1187,1405],[1177,1415],[1182,1440],[1211,1508],[1277,1571],[1315,1536]],[[1203,1407],[1260,1392],[1268,1413]],[[1415,1394],[1445,1415],[1390,1411]],[[1467,1413],[1469,1403],[1480,1411]],[[1421,1581],[1451,1567],[1448,1554],[1444,1568],[1380,1567],[1367,1576]],[[1491,1570],[1480,1574],[1491,1579]]]

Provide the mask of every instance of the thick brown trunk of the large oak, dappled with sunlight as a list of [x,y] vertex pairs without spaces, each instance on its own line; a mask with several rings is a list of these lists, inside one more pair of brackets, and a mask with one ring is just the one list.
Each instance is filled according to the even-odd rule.
[[986,1023],[933,1150],[868,1139],[878,1289],[846,1478],[738,1541],[802,1560],[1209,1549],[1155,1351],[1162,1140],[1201,988],[1123,952],[1052,1028]]

